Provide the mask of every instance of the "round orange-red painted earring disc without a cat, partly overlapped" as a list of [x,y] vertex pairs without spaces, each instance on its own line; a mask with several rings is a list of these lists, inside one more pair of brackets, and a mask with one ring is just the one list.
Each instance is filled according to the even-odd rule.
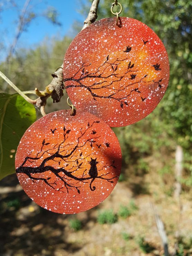
[[121,17],[99,20],[81,31],[63,67],[66,91],[77,109],[111,127],[133,124],[151,113],[169,80],[166,49],[152,29]]

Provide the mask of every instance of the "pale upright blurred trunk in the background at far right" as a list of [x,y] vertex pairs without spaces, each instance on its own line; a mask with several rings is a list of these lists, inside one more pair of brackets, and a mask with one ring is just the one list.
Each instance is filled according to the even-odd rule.
[[182,166],[183,162],[183,148],[179,145],[176,146],[175,152],[175,191],[174,191],[174,198],[178,199],[181,193],[181,183],[180,179],[182,177]]

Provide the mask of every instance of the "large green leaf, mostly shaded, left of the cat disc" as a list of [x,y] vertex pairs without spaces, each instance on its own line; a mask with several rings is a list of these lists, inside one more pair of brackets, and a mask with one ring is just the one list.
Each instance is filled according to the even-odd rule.
[[18,94],[0,93],[0,180],[15,173],[19,141],[35,120],[32,104]]

